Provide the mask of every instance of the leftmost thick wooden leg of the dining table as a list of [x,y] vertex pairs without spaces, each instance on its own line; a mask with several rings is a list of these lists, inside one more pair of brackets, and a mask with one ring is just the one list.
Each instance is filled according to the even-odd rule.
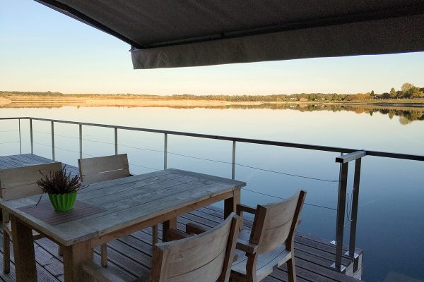
[[33,230],[11,214],[16,281],[37,282]]

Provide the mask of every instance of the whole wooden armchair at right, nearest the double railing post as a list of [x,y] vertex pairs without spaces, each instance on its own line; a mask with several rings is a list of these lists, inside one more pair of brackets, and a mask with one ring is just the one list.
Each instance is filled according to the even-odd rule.
[[[233,281],[257,282],[287,263],[288,281],[296,281],[294,238],[306,192],[300,190],[283,202],[257,205],[257,208],[237,204],[237,214],[254,214],[252,231],[243,229],[237,240],[237,260],[232,264]],[[203,228],[187,224],[187,233],[199,233]]]

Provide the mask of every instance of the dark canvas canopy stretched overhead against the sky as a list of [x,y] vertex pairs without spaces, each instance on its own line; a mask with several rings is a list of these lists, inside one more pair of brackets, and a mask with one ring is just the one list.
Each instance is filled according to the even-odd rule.
[[134,68],[424,51],[424,0],[36,0],[131,44]]

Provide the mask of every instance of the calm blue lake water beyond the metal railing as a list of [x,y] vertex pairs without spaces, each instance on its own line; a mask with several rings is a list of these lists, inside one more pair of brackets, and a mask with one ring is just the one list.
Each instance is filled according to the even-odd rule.
[[[295,109],[276,106],[263,109],[72,106],[0,109],[0,117],[12,116],[424,155],[422,109],[389,111],[387,108],[319,106],[295,106]],[[21,126],[22,151],[28,153],[28,121],[22,121]],[[34,153],[52,157],[50,123],[34,121],[33,128]],[[17,121],[0,121],[0,155],[19,154],[17,129]],[[56,124],[54,132],[56,159],[76,166],[78,126]],[[83,127],[83,139],[84,157],[114,154],[112,129]],[[163,135],[119,130],[119,152],[129,154],[132,173],[161,169]],[[168,152],[171,153],[167,159],[169,168],[231,177],[228,162],[232,160],[232,142],[171,135]],[[242,202],[257,204],[278,200],[251,191],[289,197],[303,188],[307,190],[307,204],[302,211],[299,230],[334,240],[339,173],[334,161],[336,157],[338,154],[331,152],[237,143],[236,162],[239,165],[235,176],[247,182]],[[363,279],[384,281],[389,271],[394,271],[424,281],[424,162],[365,157],[362,163],[356,245],[364,250]],[[351,165],[350,176],[353,176],[352,168]],[[352,181],[350,179],[348,184],[350,193]],[[346,219],[345,243],[348,243],[348,226]]]

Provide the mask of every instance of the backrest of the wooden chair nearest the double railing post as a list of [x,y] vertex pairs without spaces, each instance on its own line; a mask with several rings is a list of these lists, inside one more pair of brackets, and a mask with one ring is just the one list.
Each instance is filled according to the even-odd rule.
[[249,242],[258,245],[259,254],[269,252],[281,244],[291,247],[300,210],[306,192],[300,190],[293,197],[282,202],[257,206]]

